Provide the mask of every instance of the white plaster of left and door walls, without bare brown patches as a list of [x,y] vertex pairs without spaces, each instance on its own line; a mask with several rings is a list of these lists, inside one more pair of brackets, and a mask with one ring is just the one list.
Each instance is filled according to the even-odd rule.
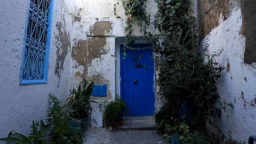
[[[48,83],[34,85],[19,85],[22,52],[24,48],[24,33],[26,28],[27,8],[29,1],[1,1],[0,2],[0,137],[7,136],[9,131],[30,133],[32,120],[39,121],[46,118],[49,104],[49,93],[64,100],[69,89],[77,87],[82,77],[76,74],[86,73],[86,77],[95,78],[101,75],[108,81],[108,99],[115,96],[115,37],[125,36],[124,27],[126,16],[121,0],[111,1],[82,1],[82,0],[54,0],[53,22],[51,31],[51,45],[49,55]],[[114,4],[117,4],[117,14],[113,14]],[[156,13],[154,0],[147,2],[147,10],[152,16]],[[77,47],[77,41],[86,43],[96,38],[91,34],[96,22],[110,23],[109,32],[100,37],[106,38],[103,50],[107,51],[100,57],[91,59],[89,67],[76,67],[78,62],[72,58],[72,47]],[[135,23],[136,25],[136,23]],[[141,35],[135,28],[134,35]],[[87,47],[88,50],[90,47]],[[86,50],[86,51],[87,51]],[[89,52],[85,58],[90,57]],[[85,59],[87,60],[87,59]],[[106,99],[99,99],[104,103]],[[94,112],[102,109],[94,105]],[[102,111],[102,110],[101,110]],[[102,113],[102,112],[100,112]]]

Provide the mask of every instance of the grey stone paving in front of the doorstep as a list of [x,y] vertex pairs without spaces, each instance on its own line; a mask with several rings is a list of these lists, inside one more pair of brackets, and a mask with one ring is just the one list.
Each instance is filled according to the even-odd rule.
[[88,129],[85,134],[86,144],[154,144],[166,143],[156,130],[116,130],[110,131],[106,128]]

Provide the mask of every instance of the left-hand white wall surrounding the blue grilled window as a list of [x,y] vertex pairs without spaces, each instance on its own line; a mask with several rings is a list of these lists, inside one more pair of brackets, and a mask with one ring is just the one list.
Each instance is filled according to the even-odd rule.
[[72,17],[54,1],[48,83],[19,85],[28,1],[0,2],[0,137],[11,130],[30,133],[32,120],[46,118],[49,93],[68,95]]

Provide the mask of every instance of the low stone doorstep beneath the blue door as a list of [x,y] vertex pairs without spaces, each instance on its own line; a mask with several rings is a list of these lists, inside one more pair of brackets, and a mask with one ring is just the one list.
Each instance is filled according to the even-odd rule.
[[155,130],[154,116],[124,116],[123,125],[118,129],[123,130]]

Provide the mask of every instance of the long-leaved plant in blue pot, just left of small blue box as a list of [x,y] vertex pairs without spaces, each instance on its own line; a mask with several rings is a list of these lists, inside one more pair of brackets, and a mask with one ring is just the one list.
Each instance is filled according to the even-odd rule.
[[73,127],[81,127],[84,131],[86,131],[91,113],[90,103],[97,103],[96,101],[90,100],[94,82],[87,85],[88,80],[86,81],[84,79],[83,87],[79,85],[77,90],[74,88],[70,90],[69,97],[66,100],[68,113],[72,118],[72,121],[69,121],[69,123]]

